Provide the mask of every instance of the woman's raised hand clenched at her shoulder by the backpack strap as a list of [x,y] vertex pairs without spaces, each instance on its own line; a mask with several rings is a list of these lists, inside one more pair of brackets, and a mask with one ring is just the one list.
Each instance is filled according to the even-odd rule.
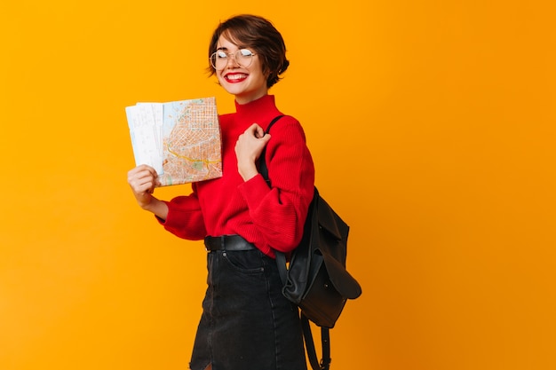
[[257,160],[268,140],[270,140],[270,135],[265,135],[265,130],[257,123],[250,125],[237,139],[235,156],[237,157],[237,170],[243,181],[257,176]]

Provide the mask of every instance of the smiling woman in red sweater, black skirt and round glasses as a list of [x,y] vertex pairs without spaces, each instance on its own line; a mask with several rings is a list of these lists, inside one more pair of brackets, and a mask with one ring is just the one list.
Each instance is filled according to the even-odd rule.
[[[268,90],[289,66],[285,52],[268,20],[240,15],[220,23],[210,41],[210,75],[236,108],[219,117],[223,176],[160,201],[154,169],[141,165],[128,174],[142,209],[181,238],[204,239],[208,251],[193,370],[306,369],[298,309],[282,296],[274,250],[288,253],[301,240],[314,164],[295,118],[282,117],[265,135],[282,114]],[[265,147],[271,186],[257,167]]]

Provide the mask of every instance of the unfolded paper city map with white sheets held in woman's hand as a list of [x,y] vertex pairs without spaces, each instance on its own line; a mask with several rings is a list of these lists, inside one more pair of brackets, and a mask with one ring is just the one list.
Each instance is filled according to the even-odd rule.
[[162,186],[222,176],[216,98],[137,103],[125,113],[136,165],[153,167]]

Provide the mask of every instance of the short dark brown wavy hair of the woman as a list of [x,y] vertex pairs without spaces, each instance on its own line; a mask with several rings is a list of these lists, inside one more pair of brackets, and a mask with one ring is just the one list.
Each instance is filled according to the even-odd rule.
[[[266,87],[270,88],[281,80],[290,61],[286,59],[286,45],[282,35],[269,21],[257,15],[242,14],[221,22],[210,39],[209,59],[217,49],[218,38],[225,35],[240,48],[250,48],[258,54],[266,77]],[[216,69],[209,62],[210,75]]]

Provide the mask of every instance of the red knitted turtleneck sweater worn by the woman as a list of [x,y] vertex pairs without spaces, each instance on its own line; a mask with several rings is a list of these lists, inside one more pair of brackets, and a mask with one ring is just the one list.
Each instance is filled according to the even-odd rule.
[[301,240],[303,225],[314,192],[314,164],[299,122],[282,117],[271,130],[266,146],[270,188],[258,174],[243,181],[237,171],[234,146],[252,123],[266,130],[281,114],[274,96],[245,105],[236,113],[220,115],[223,176],[193,184],[193,193],[167,201],[164,228],[180,238],[202,240],[206,235],[239,234],[263,253],[273,248],[289,252]]

